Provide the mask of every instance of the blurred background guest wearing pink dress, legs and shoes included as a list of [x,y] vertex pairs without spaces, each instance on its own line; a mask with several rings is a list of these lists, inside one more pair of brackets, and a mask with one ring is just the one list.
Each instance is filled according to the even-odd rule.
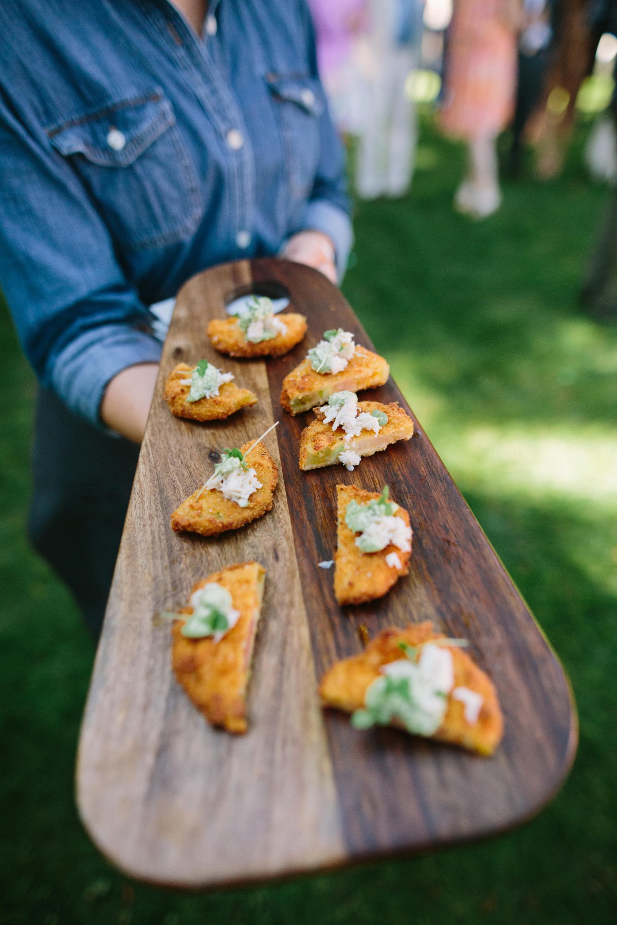
[[492,215],[501,203],[496,140],[514,108],[520,21],[516,0],[454,4],[439,123],[467,142],[468,167],[454,208],[475,218]]

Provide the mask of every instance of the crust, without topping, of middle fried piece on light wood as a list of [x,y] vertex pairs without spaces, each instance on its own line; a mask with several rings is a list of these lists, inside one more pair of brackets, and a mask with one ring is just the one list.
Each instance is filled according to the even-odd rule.
[[[245,453],[253,443],[250,440],[241,447]],[[249,498],[246,508],[225,498],[216,488],[202,491],[198,488],[190,498],[182,501],[171,515],[171,529],[176,533],[187,530],[202,536],[216,536],[225,530],[237,530],[244,524],[257,520],[272,508],[272,496],[277,487],[278,466],[263,443],[251,450],[247,460],[249,468],[255,470],[257,480],[262,483]]]

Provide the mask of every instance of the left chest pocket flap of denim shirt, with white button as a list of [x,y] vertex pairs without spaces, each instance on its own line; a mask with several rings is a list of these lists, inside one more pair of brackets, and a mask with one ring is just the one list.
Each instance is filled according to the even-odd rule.
[[124,167],[175,122],[172,105],[156,91],[70,119],[47,134],[60,154],[83,154],[99,166]]

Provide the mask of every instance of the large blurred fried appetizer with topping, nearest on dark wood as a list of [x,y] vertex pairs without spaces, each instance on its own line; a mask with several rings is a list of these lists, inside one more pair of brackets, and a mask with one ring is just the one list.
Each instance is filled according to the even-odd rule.
[[430,621],[384,630],[326,672],[322,703],[352,713],[356,729],[399,726],[492,755],[503,734],[497,692],[463,645],[435,633]]

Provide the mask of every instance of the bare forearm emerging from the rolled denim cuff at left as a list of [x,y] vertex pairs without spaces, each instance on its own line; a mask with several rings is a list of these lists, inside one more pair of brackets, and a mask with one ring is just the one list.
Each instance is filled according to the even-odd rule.
[[141,443],[152,404],[158,364],[128,366],[107,383],[101,420],[122,437]]

